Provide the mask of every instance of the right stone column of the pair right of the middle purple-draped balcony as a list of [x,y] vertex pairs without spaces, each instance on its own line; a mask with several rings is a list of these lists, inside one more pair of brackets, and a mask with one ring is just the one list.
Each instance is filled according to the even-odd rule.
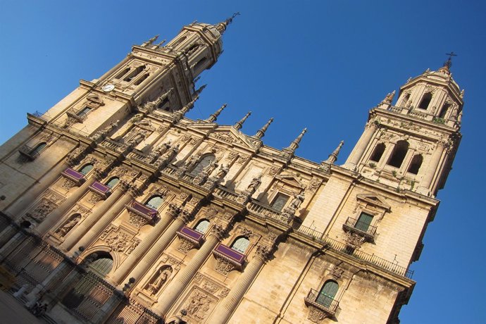
[[[182,228],[182,225],[185,225],[189,218],[190,213],[188,213],[186,210],[182,210],[179,213],[179,216],[177,216],[177,218],[173,220],[172,224],[170,224],[167,230],[163,232],[163,235],[161,235],[161,237],[158,237],[157,241],[151,247],[151,249],[149,249],[148,253],[139,260],[137,266],[135,266],[135,268],[127,275],[126,278],[135,278],[135,280],[139,281],[145,275],[145,273],[147,273],[147,270],[149,270],[149,268],[154,265],[157,258],[161,256],[163,250],[168,247],[172,239],[175,237],[175,232],[177,232],[177,230],[180,230],[180,228]],[[115,275],[116,273],[113,273],[113,276]],[[116,276],[117,278],[120,278],[120,275]]]

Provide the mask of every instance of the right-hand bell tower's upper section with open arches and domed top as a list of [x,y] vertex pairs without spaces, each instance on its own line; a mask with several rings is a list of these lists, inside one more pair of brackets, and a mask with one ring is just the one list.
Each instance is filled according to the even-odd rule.
[[461,141],[463,90],[451,59],[437,71],[410,78],[370,110],[366,128],[345,167],[399,189],[435,197]]

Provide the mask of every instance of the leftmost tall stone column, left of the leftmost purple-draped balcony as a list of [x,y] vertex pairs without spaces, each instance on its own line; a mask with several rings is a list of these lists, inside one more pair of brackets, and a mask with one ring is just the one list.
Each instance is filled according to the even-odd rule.
[[[66,161],[59,163],[57,166],[49,170],[44,176],[42,176],[30,189],[21,195],[19,199],[15,200],[13,204],[6,208],[5,213],[11,216],[14,220],[17,219],[20,214],[25,211],[32,201],[35,201],[39,194],[46,191],[58,177],[61,176],[61,172],[69,167]],[[1,236],[1,235],[0,235]]]

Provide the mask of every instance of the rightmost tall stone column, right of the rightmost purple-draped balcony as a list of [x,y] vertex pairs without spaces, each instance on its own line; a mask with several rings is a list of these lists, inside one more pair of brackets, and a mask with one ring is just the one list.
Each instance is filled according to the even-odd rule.
[[212,324],[223,324],[227,323],[230,316],[235,311],[237,305],[242,300],[244,294],[247,292],[248,288],[258,275],[261,267],[268,260],[270,256],[271,249],[265,245],[260,245],[256,247],[256,254],[248,263],[247,268],[244,269],[243,274],[238,278],[235,287],[233,287],[225,299],[220,301],[216,309],[211,314],[211,317],[206,321],[206,323]]

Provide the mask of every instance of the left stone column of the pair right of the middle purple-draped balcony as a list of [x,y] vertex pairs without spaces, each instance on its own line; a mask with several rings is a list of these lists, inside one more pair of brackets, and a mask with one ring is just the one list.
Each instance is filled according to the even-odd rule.
[[[177,213],[180,212],[180,207],[176,204],[169,204],[169,210],[165,213],[161,220],[154,226],[149,235],[133,250],[133,252],[123,261],[123,263],[111,275],[111,281],[115,285],[123,283],[122,280],[126,278],[127,274],[132,270],[142,257],[147,254],[147,251],[154,245],[154,242],[161,236],[163,231],[168,227],[170,222],[177,218]],[[178,230],[178,228],[177,228]]]

